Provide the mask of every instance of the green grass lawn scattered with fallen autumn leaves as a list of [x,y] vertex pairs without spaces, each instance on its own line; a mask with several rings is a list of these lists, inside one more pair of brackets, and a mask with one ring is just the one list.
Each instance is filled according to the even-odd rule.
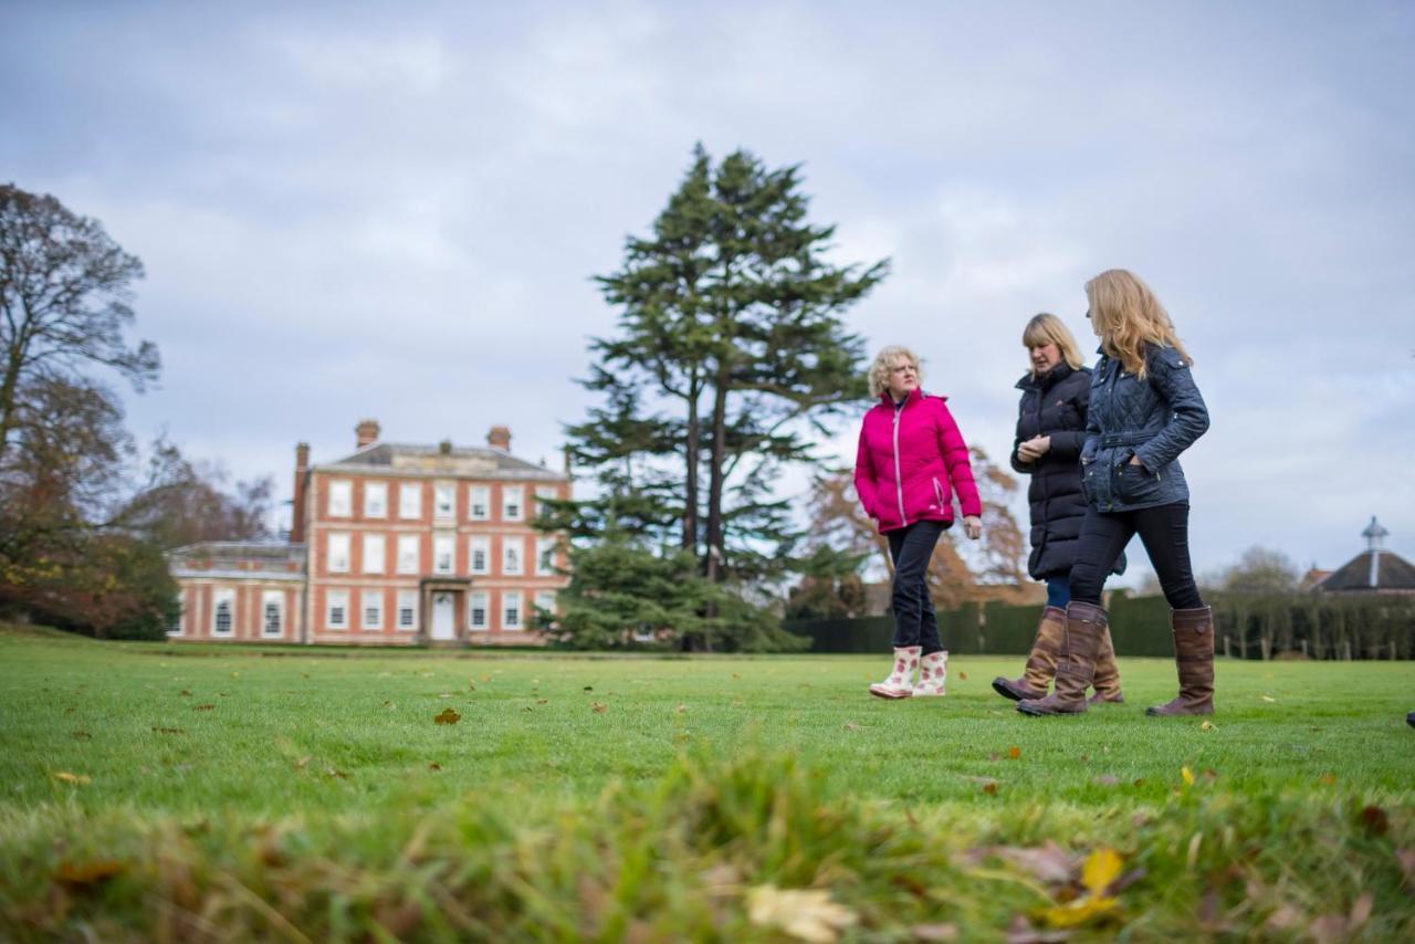
[[886,658],[0,631],[0,937],[1415,937],[1409,662],[1221,661],[1206,726],[1143,716],[1156,660],[1023,718],[1020,661],[883,702]]

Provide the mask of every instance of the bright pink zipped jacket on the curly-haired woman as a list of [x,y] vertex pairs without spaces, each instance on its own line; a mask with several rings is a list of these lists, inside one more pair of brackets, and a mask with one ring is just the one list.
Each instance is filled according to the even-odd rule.
[[951,522],[954,491],[965,517],[982,515],[968,444],[945,399],[916,389],[896,410],[886,393],[865,415],[855,491],[880,532],[916,521]]

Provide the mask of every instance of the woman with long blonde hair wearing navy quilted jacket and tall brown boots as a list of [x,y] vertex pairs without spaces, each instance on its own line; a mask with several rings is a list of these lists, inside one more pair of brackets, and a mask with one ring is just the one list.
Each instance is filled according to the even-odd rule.
[[1189,560],[1189,484],[1179,454],[1208,429],[1208,409],[1194,385],[1193,358],[1149,286],[1124,269],[1085,283],[1087,317],[1101,338],[1092,372],[1081,487],[1081,524],[1063,655],[1051,695],[1022,701],[1027,715],[1085,710],[1085,689],[1108,630],[1101,606],[1105,576],[1136,534],[1170,606],[1179,698],[1149,715],[1211,715],[1214,621]]

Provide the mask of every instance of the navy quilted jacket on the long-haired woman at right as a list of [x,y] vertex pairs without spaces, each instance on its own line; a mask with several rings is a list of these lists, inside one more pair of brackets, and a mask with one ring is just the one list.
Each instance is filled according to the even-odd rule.
[[1102,354],[1091,375],[1081,487],[1098,511],[1189,501],[1179,454],[1208,429],[1208,408],[1179,351],[1150,347],[1145,362],[1140,381]]

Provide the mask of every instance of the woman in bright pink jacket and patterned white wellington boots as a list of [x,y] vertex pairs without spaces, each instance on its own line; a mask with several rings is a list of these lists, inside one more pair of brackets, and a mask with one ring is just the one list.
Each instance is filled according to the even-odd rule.
[[[954,524],[954,493],[964,531],[982,535],[982,501],[964,442],[942,396],[920,389],[918,358],[887,347],[870,367],[870,393],[880,398],[860,426],[855,491],[865,512],[889,538],[894,560],[894,671],[870,685],[870,695],[942,695],[948,652],[938,637],[928,594],[928,560],[944,529]],[[918,669],[918,682],[914,671]]]

